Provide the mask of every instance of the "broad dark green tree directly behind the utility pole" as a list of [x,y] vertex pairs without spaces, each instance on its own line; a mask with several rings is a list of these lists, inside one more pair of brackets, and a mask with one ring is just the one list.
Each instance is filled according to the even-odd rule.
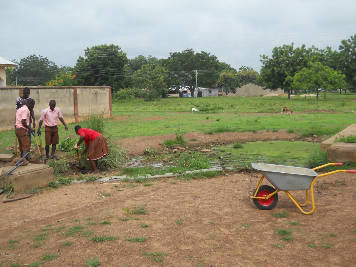
[[[168,60],[164,64],[166,64],[169,72],[175,72],[176,77],[171,75],[172,78],[168,80],[168,85],[187,85],[192,97],[194,97],[195,70],[204,70],[204,72],[198,74],[198,86],[211,88],[219,77],[218,74],[215,74],[218,70],[218,63],[216,56],[205,51],[195,53],[193,49],[185,49],[183,52],[169,53]],[[213,73],[213,75],[210,73]]]

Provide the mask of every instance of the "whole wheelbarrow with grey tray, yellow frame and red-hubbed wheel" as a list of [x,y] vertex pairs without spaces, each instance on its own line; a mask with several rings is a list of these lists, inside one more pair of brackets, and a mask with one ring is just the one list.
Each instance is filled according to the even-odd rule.
[[[269,210],[276,206],[278,201],[278,192],[284,191],[288,197],[293,201],[295,206],[304,214],[312,214],[315,210],[314,202],[314,192],[313,186],[319,177],[327,176],[337,172],[350,172],[356,173],[354,170],[337,170],[333,172],[327,172],[323,174],[317,174],[315,170],[324,168],[330,165],[342,165],[342,163],[327,163],[319,167],[308,169],[284,165],[275,165],[275,164],[266,164],[266,163],[256,163],[253,162],[252,168],[257,170],[262,174],[260,181],[257,184],[257,188],[251,194],[251,184],[253,170],[251,173],[250,186],[248,188],[247,196],[252,198],[253,203],[257,208],[262,210]],[[273,186],[262,185],[263,179],[267,179]],[[312,210],[306,212],[302,207],[306,206],[309,203],[309,190],[312,198]],[[300,204],[295,198],[289,193],[293,190],[305,190],[307,195],[307,200],[304,204]]]

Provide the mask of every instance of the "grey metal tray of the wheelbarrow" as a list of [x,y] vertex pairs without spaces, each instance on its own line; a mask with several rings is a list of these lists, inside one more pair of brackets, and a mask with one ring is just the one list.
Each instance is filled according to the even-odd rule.
[[252,162],[252,168],[260,172],[278,190],[308,190],[318,176],[308,168]]

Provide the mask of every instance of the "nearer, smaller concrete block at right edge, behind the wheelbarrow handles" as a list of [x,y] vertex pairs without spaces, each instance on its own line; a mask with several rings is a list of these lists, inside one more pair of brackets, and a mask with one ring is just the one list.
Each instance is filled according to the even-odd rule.
[[356,143],[333,143],[327,156],[329,162],[356,162]]

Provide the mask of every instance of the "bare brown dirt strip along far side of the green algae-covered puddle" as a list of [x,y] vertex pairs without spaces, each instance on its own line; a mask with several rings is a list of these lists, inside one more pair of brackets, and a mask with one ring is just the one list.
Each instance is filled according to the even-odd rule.
[[[133,156],[142,155],[147,147],[153,147],[157,150],[162,150],[163,146],[160,145],[166,139],[174,139],[174,135],[156,135],[156,136],[141,136],[119,139],[118,145],[125,150],[132,153]],[[253,141],[268,141],[268,140],[297,140],[299,135],[288,133],[286,130],[279,130],[278,132],[258,131],[253,132],[225,132],[215,133],[213,135],[204,135],[203,133],[188,132],[184,135],[184,139],[188,141],[187,146],[205,146],[210,143],[233,143],[240,141],[243,143]],[[196,139],[197,141],[189,141]],[[303,139],[304,141],[304,139]]]

